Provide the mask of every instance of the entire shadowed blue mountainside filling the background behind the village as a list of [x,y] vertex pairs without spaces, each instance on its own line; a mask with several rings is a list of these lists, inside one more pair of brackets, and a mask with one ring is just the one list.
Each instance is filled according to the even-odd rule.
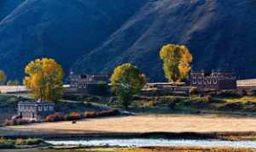
[[159,50],[175,42],[188,45],[194,69],[255,77],[255,25],[255,0],[26,0],[0,22],[0,68],[21,77],[43,56],[88,73],[132,62],[163,81]]

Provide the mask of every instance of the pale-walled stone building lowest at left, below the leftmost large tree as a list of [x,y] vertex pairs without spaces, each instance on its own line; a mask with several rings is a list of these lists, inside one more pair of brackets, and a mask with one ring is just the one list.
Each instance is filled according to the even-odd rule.
[[18,115],[31,121],[43,120],[47,115],[55,113],[55,104],[39,99],[37,102],[20,102]]

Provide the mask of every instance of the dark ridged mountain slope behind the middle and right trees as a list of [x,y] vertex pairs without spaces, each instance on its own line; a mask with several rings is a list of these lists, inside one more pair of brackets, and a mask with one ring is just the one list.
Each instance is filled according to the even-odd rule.
[[254,0],[148,1],[101,47],[73,65],[84,72],[111,72],[136,64],[151,80],[163,81],[159,51],[163,44],[186,44],[194,69],[236,70],[256,76],[256,2]]

